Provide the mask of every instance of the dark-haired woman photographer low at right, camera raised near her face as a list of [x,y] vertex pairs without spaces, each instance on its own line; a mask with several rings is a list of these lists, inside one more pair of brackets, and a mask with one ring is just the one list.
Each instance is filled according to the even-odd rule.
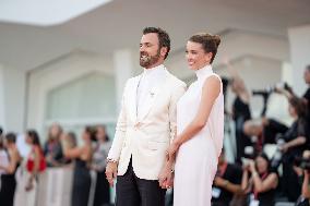
[[251,204],[258,206],[274,206],[275,190],[278,183],[278,174],[271,169],[271,163],[265,154],[260,154],[255,160],[249,160],[243,168],[242,190],[252,195]]

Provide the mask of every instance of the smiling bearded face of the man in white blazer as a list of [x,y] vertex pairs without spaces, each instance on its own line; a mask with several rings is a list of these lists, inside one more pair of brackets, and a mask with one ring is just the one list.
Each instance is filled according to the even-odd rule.
[[140,65],[152,68],[160,59],[159,40],[156,33],[148,33],[142,36],[140,43]]

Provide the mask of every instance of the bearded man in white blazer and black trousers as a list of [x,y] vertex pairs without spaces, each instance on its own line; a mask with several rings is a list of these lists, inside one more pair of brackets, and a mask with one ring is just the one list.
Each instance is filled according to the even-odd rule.
[[[162,28],[146,27],[140,43],[141,75],[127,81],[106,175],[117,178],[117,206],[164,206],[158,183],[166,149],[176,135],[176,106],[186,84],[163,65],[170,38]],[[167,171],[164,171],[167,177]]]

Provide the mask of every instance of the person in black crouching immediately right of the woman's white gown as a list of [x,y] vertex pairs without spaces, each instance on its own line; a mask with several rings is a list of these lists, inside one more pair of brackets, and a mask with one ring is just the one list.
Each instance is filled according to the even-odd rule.
[[242,168],[228,163],[223,149],[218,158],[218,169],[213,183],[212,206],[229,206],[235,194],[241,194]]

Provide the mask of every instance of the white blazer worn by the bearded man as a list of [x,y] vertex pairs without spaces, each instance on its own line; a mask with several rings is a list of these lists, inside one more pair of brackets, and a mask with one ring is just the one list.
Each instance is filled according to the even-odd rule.
[[136,117],[136,89],[141,75],[127,81],[121,111],[108,158],[118,161],[118,175],[123,175],[132,156],[134,173],[140,179],[158,180],[166,149],[177,131],[176,109],[187,85],[165,74],[163,84],[150,90]]

